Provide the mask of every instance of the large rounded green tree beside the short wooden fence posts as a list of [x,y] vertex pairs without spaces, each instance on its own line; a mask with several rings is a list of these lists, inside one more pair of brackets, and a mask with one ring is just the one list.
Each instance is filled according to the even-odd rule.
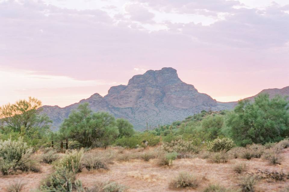
[[119,135],[116,120],[107,112],[93,113],[88,103],[72,111],[60,128],[63,137],[70,138],[82,147],[110,145]]

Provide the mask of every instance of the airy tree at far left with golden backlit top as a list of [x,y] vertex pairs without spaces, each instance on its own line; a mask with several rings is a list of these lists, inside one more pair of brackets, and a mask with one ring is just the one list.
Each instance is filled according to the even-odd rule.
[[41,105],[41,101],[30,97],[28,101],[0,107],[0,138],[17,140],[21,136],[23,141],[37,147],[48,143],[51,120],[38,109]]

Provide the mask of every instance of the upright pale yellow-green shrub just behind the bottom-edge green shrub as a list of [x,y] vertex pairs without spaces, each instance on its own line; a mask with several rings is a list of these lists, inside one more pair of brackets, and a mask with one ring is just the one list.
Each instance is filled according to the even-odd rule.
[[81,159],[83,151],[73,150],[67,153],[57,164],[58,167],[63,167],[70,172],[79,173],[81,172]]

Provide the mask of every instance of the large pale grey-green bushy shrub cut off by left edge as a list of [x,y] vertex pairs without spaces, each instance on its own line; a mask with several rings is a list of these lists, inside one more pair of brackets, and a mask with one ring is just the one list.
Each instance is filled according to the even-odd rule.
[[17,141],[0,140],[0,169],[3,175],[17,170],[23,164],[30,161],[33,150],[27,143],[23,142],[22,137]]

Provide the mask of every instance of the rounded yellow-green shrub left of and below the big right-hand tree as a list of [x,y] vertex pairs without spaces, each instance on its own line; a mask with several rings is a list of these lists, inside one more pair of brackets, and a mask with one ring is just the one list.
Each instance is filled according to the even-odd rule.
[[215,139],[209,143],[208,149],[212,152],[229,151],[235,146],[233,140],[229,138]]

